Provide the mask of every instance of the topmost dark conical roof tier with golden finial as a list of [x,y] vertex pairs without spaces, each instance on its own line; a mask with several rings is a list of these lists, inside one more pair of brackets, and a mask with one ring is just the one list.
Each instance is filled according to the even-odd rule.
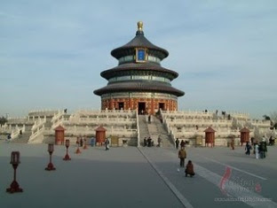
[[132,55],[135,53],[136,48],[146,48],[148,50],[148,54],[153,55],[154,57],[160,58],[167,58],[169,56],[169,52],[164,50],[158,46],[155,46],[152,42],[149,42],[146,37],[144,36],[143,30],[143,23],[141,21],[138,22],[138,31],[136,36],[128,42],[127,44],[123,45],[122,47],[116,48],[115,50],[111,51],[111,55],[114,58],[122,58],[124,56]]

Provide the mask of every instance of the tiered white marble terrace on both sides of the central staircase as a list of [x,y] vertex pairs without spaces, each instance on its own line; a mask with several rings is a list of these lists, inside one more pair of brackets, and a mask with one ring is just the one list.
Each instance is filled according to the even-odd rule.
[[[216,130],[216,145],[226,145],[230,137],[239,141],[242,127],[248,127],[250,136],[270,136],[270,122],[249,119],[249,114],[241,112],[170,112],[161,111],[163,127],[171,138],[185,139],[195,143],[196,136],[204,138],[204,130],[212,127]],[[115,110],[79,110],[67,114],[60,110],[36,110],[28,113],[27,117],[9,118],[0,127],[0,139],[12,134],[12,140],[21,137],[28,143],[52,143],[58,126],[66,128],[65,137],[75,143],[76,136],[95,136],[95,129],[103,126],[107,129],[107,137],[118,136],[127,140],[130,145],[139,143],[139,117],[137,111]],[[20,137],[20,138],[21,138]]]

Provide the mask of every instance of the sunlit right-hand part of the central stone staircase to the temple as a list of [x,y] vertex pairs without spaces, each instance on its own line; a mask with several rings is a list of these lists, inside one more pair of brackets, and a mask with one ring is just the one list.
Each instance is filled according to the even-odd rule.
[[154,144],[158,143],[158,137],[162,138],[162,147],[174,147],[174,143],[168,135],[168,132],[162,125],[160,119],[157,119],[155,116],[151,116],[151,123],[147,123],[147,129],[150,137],[154,140]]

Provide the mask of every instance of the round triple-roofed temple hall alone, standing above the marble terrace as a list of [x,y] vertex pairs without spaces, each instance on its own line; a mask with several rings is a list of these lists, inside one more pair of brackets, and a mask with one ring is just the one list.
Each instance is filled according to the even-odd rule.
[[149,42],[143,32],[143,23],[138,22],[136,36],[111,51],[118,65],[100,73],[107,79],[107,86],[94,91],[101,96],[101,109],[138,110],[154,114],[162,111],[177,111],[178,96],[185,93],[171,86],[178,73],[161,65],[169,52]]

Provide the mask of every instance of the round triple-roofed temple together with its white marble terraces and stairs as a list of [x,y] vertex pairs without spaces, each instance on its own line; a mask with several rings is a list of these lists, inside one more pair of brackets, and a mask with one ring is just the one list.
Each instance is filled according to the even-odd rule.
[[172,148],[177,138],[187,147],[213,147],[277,137],[270,120],[250,119],[248,113],[178,111],[178,96],[185,94],[171,86],[178,73],[161,66],[169,52],[149,42],[142,26],[139,22],[131,42],[111,52],[119,64],[101,73],[107,86],[94,91],[101,96],[102,110],[33,110],[22,118],[7,118],[0,125],[0,142],[74,144],[83,137],[93,146],[108,138],[117,147],[144,145],[151,137],[154,144],[160,139],[162,147]]

